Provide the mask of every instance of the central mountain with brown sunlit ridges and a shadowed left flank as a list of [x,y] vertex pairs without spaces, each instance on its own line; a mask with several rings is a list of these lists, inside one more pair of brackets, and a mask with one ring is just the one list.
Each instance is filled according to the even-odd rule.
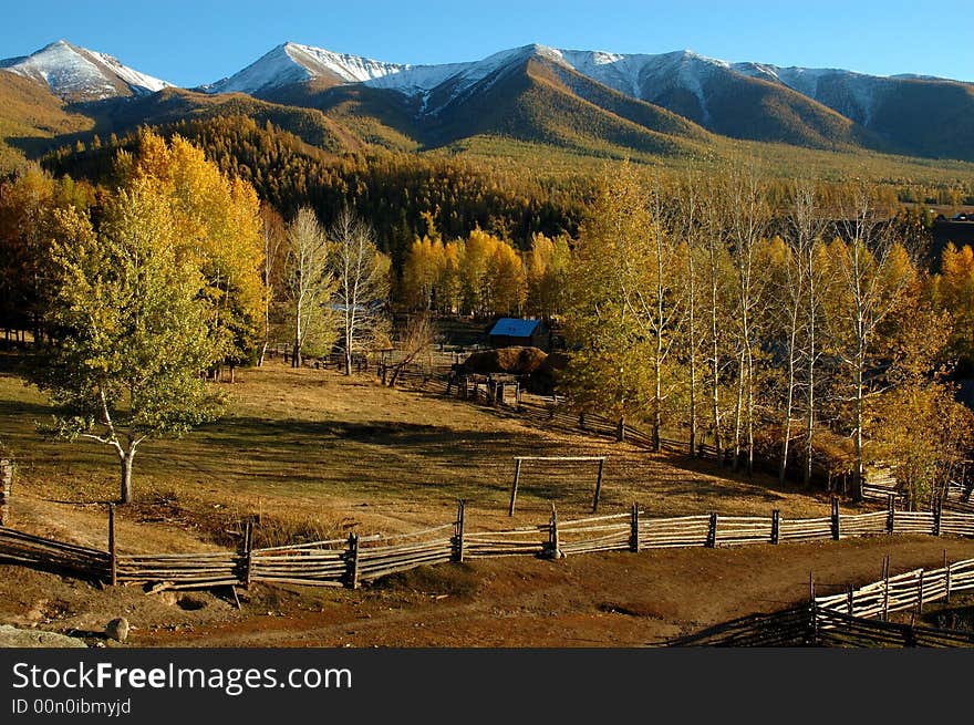
[[261,96],[320,108],[364,143],[398,149],[488,135],[598,155],[610,148],[669,154],[712,139],[696,124],[576,73],[533,45],[437,73],[414,66],[365,83],[280,85]]

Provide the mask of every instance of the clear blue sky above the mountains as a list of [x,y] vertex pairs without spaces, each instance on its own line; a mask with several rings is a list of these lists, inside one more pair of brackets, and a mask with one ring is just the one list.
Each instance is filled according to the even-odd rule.
[[0,58],[64,38],[183,86],[229,75],[287,40],[404,63],[538,42],[974,81],[970,0],[0,0]]

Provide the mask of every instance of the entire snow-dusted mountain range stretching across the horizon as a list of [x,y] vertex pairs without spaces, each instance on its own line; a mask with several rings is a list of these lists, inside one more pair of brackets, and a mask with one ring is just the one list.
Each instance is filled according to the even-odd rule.
[[[69,103],[176,87],[64,40],[0,61],[0,70],[42,82]],[[360,128],[363,144],[401,148],[435,147],[486,130],[589,149],[604,143],[674,149],[706,143],[708,132],[827,151],[974,159],[972,83],[731,63],[688,50],[620,54],[528,44],[475,61],[413,65],[284,42],[237,73],[183,90],[197,94],[184,96],[193,107],[209,105],[203,96],[242,93],[314,108]],[[139,107],[151,113],[159,105]],[[672,138],[659,143],[646,134]]]

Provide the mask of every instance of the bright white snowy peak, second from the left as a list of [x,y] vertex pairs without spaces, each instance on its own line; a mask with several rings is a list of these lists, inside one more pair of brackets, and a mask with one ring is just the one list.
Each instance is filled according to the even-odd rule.
[[207,93],[268,92],[292,83],[324,79],[333,83],[361,83],[404,70],[359,55],[333,53],[323,48],[282,43],[234,75],[203,86]]

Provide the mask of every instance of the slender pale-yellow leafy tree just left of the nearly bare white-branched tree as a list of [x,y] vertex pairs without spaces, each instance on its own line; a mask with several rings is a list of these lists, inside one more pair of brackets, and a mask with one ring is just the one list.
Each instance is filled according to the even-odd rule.
[[288,226],[288,294],[294,351],[291,365],[301,365],[309,334],[320,329],[327,315],[324,305],[336,288],[331,275],[330,245],[314,211],[302,207]]

